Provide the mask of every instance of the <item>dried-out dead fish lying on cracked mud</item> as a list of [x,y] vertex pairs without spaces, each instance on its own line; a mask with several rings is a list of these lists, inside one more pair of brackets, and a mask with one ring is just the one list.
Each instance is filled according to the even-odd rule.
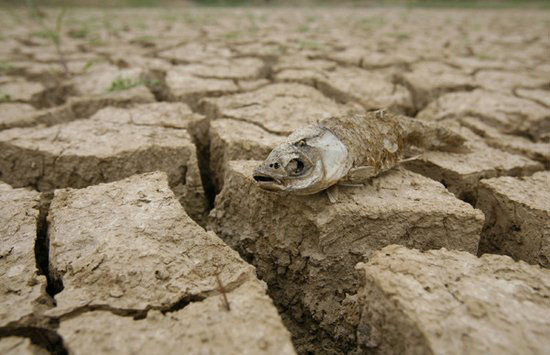
[[438,124],[384,110],[349,112],[294,131],[253,178],[266,190],[310,195],[336,184],[362,184],[409,160],[404,159],[409,146],[456,151],[464,142]]

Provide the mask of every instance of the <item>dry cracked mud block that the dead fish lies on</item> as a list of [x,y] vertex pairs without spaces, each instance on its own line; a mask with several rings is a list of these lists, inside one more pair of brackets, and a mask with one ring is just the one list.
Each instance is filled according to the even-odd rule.
[[233,161],[210,227],[258,268],[271,296],[298,322],[306,317],[344,346],[355,342],[354,265],[399,243],[422,250],[477,252],[483,215],[445,188],[403,169],[363,188],[287,196],[254,186],[257,161]]

